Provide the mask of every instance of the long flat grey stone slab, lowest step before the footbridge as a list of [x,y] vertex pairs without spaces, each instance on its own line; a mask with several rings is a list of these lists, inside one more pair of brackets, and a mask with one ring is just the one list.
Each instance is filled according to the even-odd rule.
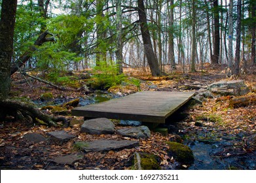
[[102,150],[122,150],[139,146],[138,141],[96,140],[91,142],[75,142],[75,146],[85,152],[98,152]]

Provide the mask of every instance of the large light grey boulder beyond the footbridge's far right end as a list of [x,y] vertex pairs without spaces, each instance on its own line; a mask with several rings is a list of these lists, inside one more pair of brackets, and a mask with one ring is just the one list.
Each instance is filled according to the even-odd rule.
[[208,86],[210,92],[220,95],[246,95],[249,92],[243,80],[219,81]]

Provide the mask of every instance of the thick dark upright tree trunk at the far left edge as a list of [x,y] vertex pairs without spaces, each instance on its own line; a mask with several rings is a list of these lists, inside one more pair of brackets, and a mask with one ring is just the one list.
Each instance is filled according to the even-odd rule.
[[10,63],[13,52],[17,0],[3,0],[0,20],[0,99],[10,92]]

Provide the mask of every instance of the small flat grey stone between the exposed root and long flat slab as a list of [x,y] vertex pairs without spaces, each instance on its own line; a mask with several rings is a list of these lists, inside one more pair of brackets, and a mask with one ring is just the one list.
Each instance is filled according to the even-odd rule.
[[62,131],[51,131],[47,133],[50,135],[49,141],[56,143],[56,144],[64,144],[65,142],[69,141],[70,139],[75,138],[75,135],[70,135],[69,133]]

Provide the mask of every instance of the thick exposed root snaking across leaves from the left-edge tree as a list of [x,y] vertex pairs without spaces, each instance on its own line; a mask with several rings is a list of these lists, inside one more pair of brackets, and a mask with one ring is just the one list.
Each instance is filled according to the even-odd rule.
[[14,113],[13,111],[20,111],[22,114],[26,114],[24,116],[31,116],[32,119],[39,119],[45,122],[46,125],[49,126],[57,126],[56,122],[63,122],[63,125],[66,127],[68,126],[68,120],[62,116],[54,117],[49,116],[48,114],[44,114],[35,106],[29,103],[23,103],[20,101],[15,101],[11,99],[0,100],[0,108],[2,117],[4,116],[3,113],[8,114],[9,111]]

